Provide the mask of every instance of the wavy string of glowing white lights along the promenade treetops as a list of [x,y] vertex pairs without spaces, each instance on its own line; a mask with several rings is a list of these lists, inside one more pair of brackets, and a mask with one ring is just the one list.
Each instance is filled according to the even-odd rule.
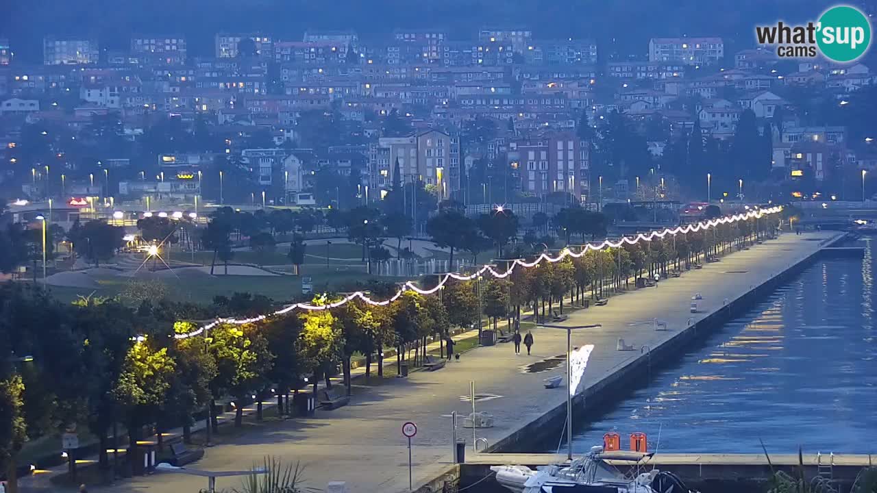
[[431,288],[431,289],[421,289],[413,282],[408,281],[408,282],[405,282],[403,284],[402,289],[399,289],[398,291],[396,291],[396,294],[393,295],[393,297],[390,297],[389,299],[382,300],[382,301],[374,300],[374,299],[368,297],[366,295],[366,293],[364,293],[362,291],[356,291],[355,293],[351,293],[350,295],[347,295],[346,297],[343,297],[343,298],[339,299],[338,301],[333,302],[331,304],[317,305],[317,304],[310,304],[310,303],[297,303],[297,304],[290,304],[289,306],[286,306],[278,311],[273,311],[273,312],[268,313],[268,314],[259,315],[258,317],[217,318],[213,322],[210,322],[210,324],[203,325],[203,326],[199,327],[198,329],[196,329],[195,331],[183,333],[183,334],[175,334],[174,337],[175,337],[175,339],[188,339],[189,337],[194,337],[196,335],[200,335],[204,331],[209,331],[213,327],[220,325],[220,324],[234,324],[234,325],[252,324],[253,322],[259,322],[260,320],[265,320],[266,318],[269,318],[269,317],[284,315],[284,314],[289,313],[290,311],[294,311],[294,310],[315,311],[315,310],[328,310],[328,309],[332,309],[332,308],[338,308],[339,306],[343,306],[347,303],[350,303],[351,301],[353,301],[356,298],[360,298],[362,301],[364,301],[367,304],[371,304],[371,305],[375,305],[375,306],[386,306],[388,304],[393,303],[397,299],[399,299],[399,297],[401,297],[403,295],[403,293],[407,290],[414,291],[420,295],[431,295],[431,294],[435,293],[436,291],[438,291],[439,289],[444,288],[445,284],[448,282],[449,279],[455,279],[457,281],[471,281],[475,278],[481,277],[481,275],[484,275],[485,273],[489,273],[490,275],[493,275],[497,279],[504,279],[504,278],[508,277],[509,275],[511,275],[512,271],[518,265],[523,267],[523,268],[532,268],[532,267],[538,266],[538,264],[541,263],[542,261],[548,261],[550,263],[554,263],[554,262],[562,261],[567,256],[577,259],[577,258],[580,258],[582,255],[587,254],[588,251],[591,251],[591,250],[598,251],[598,250],[602,250],[602,249],[607,248],[607,247],[610,247],[610,248],[623,247],[625,243],[628,245],[636,245],[639,241],[652,241],[652,239],[654,239],[656,237],[660,238],[660,239],[664,239],[664,237],[666,237],[667,234],[672,234],[675,236],[679,233],[685,234],[688,232],[698,232],[698,231],[702,231],[705,229],[709,229],[711,227],[716,227],[717,225],[725,225],[725,224],[734,223],[737,221],[744,221],[746,219],[751,219],[751,218],[760,218],[763,215],[775,214],[775,213],[780,212],[780,211],[782,211],[782,207],[777,205],[777,206],[771,207],[769,209],[760,209],[758,211],[749,211],[749,212],[746,212],[745,214],[734,214],[733,216],[725,216],[724,218],[710,219],[709,221],[703,221],[700,223],[696,223],[694,225],[676,226],[675,228],[672,228],[672,229],[667,228],[667,229],[664,229],[662,231],[638,233],[635,237],[632,237],[632,238],[628,237],[628,236],[624,236],[621,239],[618,239],[617,241],[611,241],[609,239],[605,239],[599,245],[592,245],[590,243],[586,244],[584,247],[581,248],[581,252],[579,252],[577,254],[574,253],[572,250],[570,250],[568,247],[566,247],[563,250],[561,250],[560,254],[558,254],[558,256],[556,256],[556,257],[552,257],[552,256],[549,256],[548,254],[543,253],[543,254],[539,254],[539,256],[536,258],[536,260],[531,261],[531,262],[522,261],[521,259],[515,259],[514,261],[510,262],[509,268],[506,269],[505,272],[497,272],[493,266],[485,265],[485,266],[482,266],[481,268],[479,268],[473,274],[469,274],[469,275],[449,273],[449,274],[443,275],[441,278],[441,281],[439,281],[439,283],[436,284],[436,286]]

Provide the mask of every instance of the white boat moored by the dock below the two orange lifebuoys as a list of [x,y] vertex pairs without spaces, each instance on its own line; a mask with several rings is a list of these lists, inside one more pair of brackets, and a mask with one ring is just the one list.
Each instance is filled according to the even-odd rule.
[[[676,475],[652,469],[625,476],[614,463],[626,463],[638,470],[652,453],[591,451],[569,464],[540,466],[493,466],[496,482],[513,493],[690,493]],[[610,463],[611,462],[611,463]]]

